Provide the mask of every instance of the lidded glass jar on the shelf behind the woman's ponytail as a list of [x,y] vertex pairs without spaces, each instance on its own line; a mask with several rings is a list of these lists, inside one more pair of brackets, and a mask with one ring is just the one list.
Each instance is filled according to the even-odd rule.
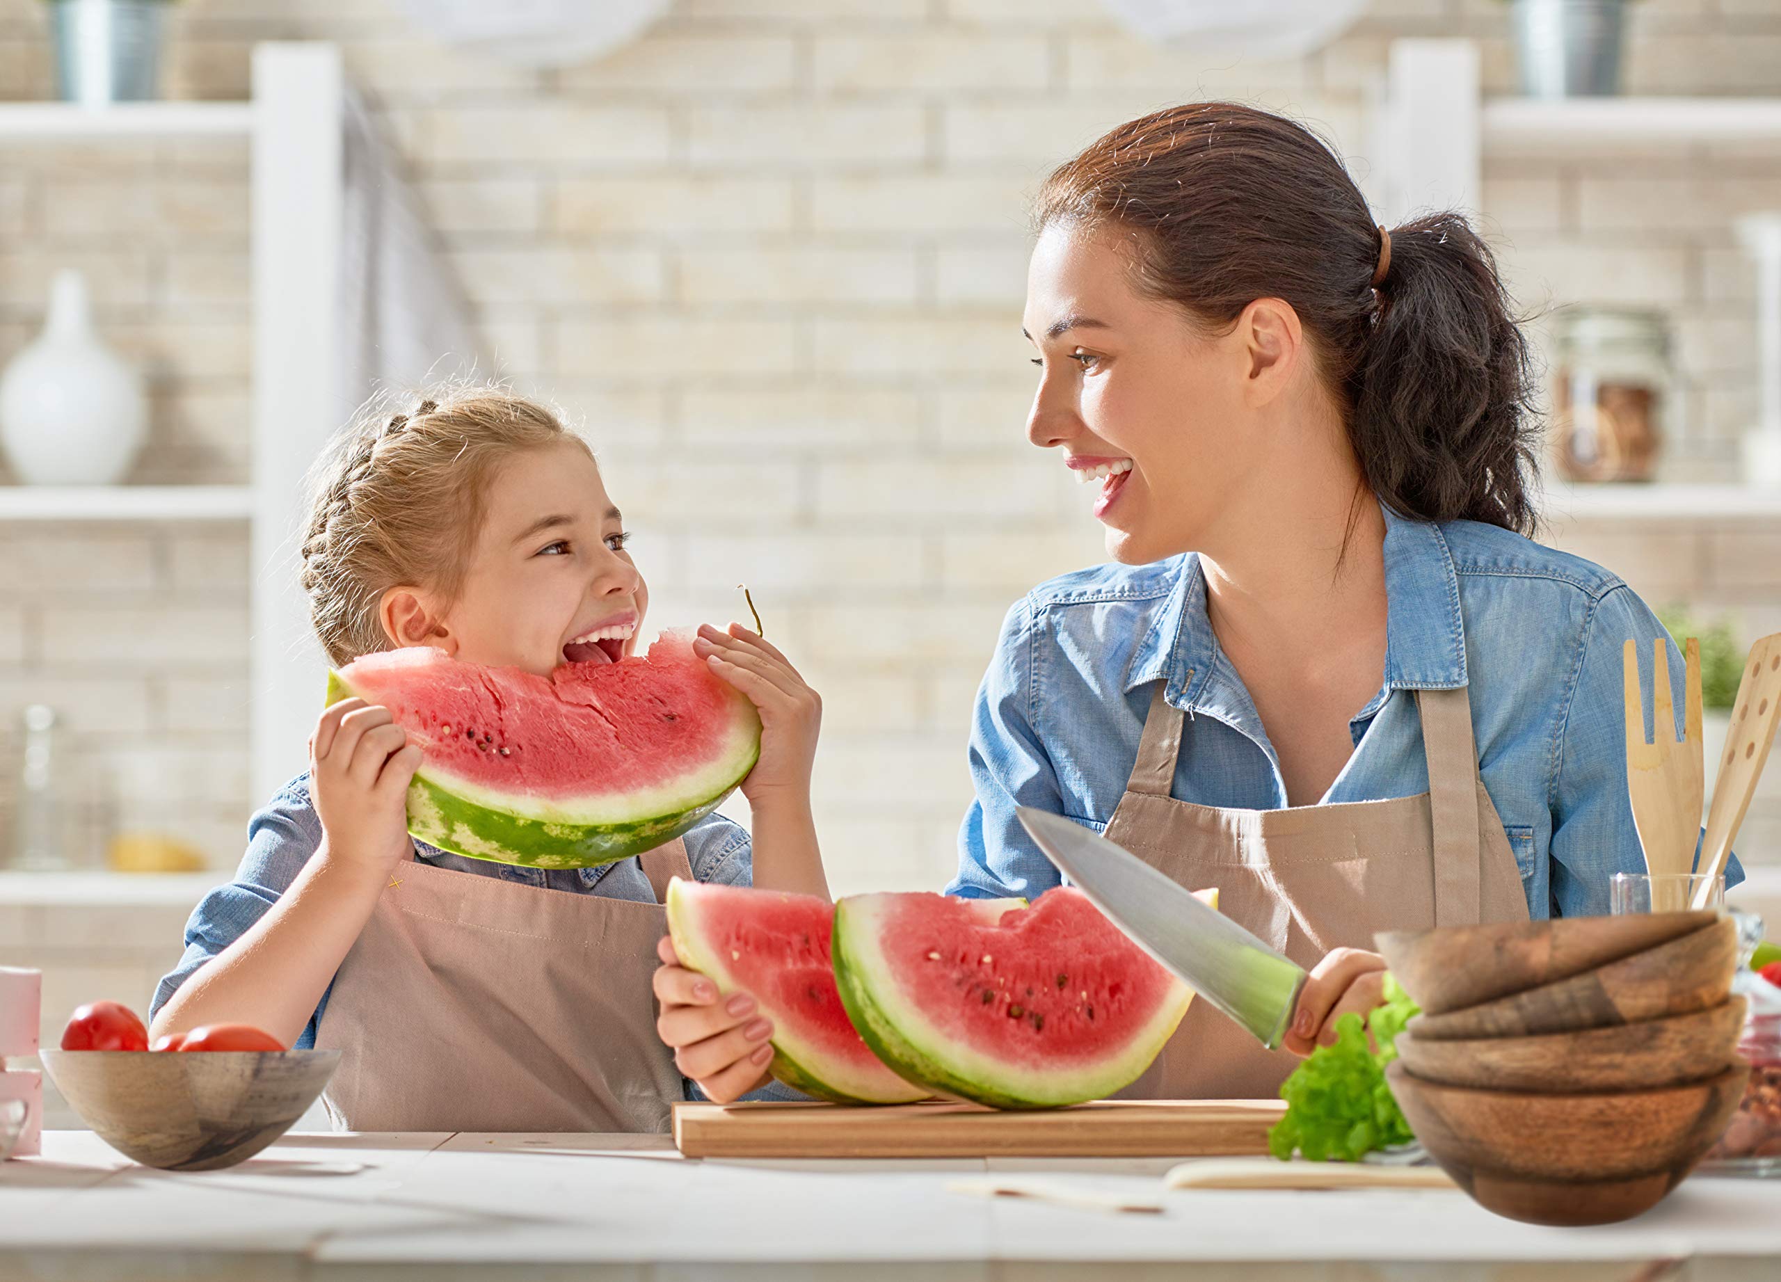
[[1553,461],[1567,481],[1651,481],[1676,404],[1662,312],[1567,308],[1553,349]]

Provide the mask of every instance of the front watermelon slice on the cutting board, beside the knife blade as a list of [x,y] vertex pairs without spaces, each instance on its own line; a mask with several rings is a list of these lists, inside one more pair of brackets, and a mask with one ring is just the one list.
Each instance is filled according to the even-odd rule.
[[834,953],[841,1001],[880,1059],[992,1108],[1129,1086],[1193,999],[1074,887],[994,922],[937,894],[842,899]]

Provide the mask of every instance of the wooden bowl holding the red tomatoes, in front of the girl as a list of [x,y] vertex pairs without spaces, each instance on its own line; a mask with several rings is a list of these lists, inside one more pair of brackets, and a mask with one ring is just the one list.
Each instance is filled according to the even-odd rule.
[[80,1120],[144,1166],[253,1157],[315,1102],[338,1051],[41,1051]]

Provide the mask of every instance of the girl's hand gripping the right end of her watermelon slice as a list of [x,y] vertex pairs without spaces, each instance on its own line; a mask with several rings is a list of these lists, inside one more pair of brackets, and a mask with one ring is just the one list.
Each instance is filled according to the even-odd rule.
[[748,805],[785,796],[807,807],[823,700],[785,655],[741,623],[730,623],[728,632],[700,627],[693,652],[760,712],[760,760],[743,780]]

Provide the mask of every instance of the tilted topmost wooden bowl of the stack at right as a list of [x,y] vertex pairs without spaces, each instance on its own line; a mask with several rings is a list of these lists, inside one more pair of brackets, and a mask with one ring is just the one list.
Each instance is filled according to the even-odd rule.
[[1712,912],[1560,917],[1380,931],[1373,944],[1425,1015],[1507,997],[1642,953],[1713,922]]

